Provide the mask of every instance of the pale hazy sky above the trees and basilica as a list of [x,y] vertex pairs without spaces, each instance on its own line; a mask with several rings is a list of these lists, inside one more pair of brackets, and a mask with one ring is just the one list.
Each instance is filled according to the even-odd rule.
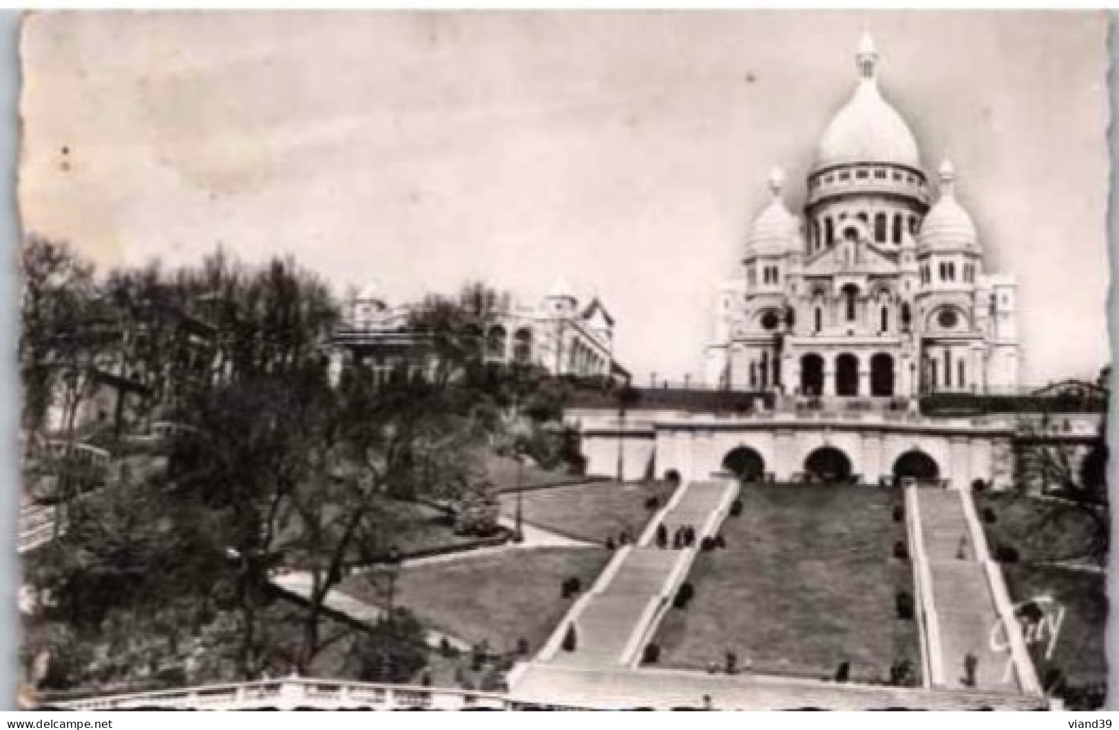
[[773,166],[799,205],[863,28],[988,270],[1018,278],[1023,380],[1094,373],[1101,13],[37,15],[23,224],[102,262],[290,252],[393,300],[563,275],[639,382],[679,378]]

